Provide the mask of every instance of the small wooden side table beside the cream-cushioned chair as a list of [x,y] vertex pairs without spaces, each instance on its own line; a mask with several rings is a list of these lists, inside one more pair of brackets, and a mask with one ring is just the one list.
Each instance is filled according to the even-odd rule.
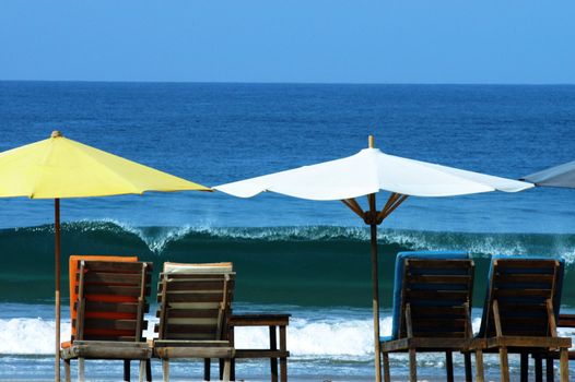
[[[286,327],[290,324],[291,314],[233,314],[230,318],[230,341],[234,344],[234,327],[236,326],[268,326],[270,333],[270,346],[268,349],[237,349],[235,359],[239,358],[269,358],[271,381],[278,382],[278,359],[280,360],[280,381],[288,381],[288,351]],[[280,329],[280,348],[277,343],[277,327]],[[235,380],[235,359],[232,360],[232,380]]]

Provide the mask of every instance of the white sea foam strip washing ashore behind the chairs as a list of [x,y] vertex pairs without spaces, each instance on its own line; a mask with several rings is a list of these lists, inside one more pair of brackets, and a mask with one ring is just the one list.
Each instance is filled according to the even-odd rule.
[[[302,318],[304,315],[309,318]],[[331,318],[319,319],[320,315]],[[362,315],[364,318],[359,318],[356,313],[345,315],[341,310],[336,312],[327,310],[292,318],[288,329],[288,349],[291,353],[291,359],[328,368],[332,368],[333,362],[338,365],[353,362],[355,367],[368,365],[373,361],[373,326],[369,312],[366,310]],[[144,335],[151,338],[155,336],[153,326],[157,319],[151,314],[146,319],[150,320],[150,324]],[[479,331],[480,322],[481,319],[476,315],[472,322],[476,333]],[[51,356],[54,354],[54,330],[52,320],[0,319],[0,355]],[[391,318],[388,313],[382,318],[380,331],[384,336],[391,333]],[[563,329],[560,330],[560,335],[573,337],[575,332],[571,329]],[[70,322],[64,321],[61,338],[66,341],[69,336]],[[237,327],[235,337],[237,348],[265,348],[269,345],[267,327]],[[486,367],[496,368],[498,358],[485,356],[484,361]],[[404,372],[408,356],[394,355],[390,357],[390,362],[395,370]],[[418,355],[418,362],[435,369],[442,369],[445,366],[443,357],[434,354]],[[462,357],[455,357],[454,362],[458,368],[462,367]],[[518,359],[511,359],[511,363],[514,368],[518,367]]]

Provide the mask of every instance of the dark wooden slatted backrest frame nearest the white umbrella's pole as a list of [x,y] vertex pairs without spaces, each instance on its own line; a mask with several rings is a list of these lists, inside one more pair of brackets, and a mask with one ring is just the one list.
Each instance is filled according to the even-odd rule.
[[408,309],[413,337],[471,337],[473,274],[470,259],[404,259],[399,337]]

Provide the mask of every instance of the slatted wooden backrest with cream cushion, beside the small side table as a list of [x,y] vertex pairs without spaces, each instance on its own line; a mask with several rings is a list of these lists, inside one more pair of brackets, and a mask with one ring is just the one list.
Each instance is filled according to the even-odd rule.
[[157,287],[159,339],[227,339],[234,287],[231,263],[164,265]]

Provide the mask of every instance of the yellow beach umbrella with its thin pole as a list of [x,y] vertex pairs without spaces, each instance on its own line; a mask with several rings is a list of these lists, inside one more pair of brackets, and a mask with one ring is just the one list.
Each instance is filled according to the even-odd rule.
[[145,191],[211,191],[54,131],[47,140],[0,153],[0,196],[55,200],[56,380],[60,380],[60,199]]

